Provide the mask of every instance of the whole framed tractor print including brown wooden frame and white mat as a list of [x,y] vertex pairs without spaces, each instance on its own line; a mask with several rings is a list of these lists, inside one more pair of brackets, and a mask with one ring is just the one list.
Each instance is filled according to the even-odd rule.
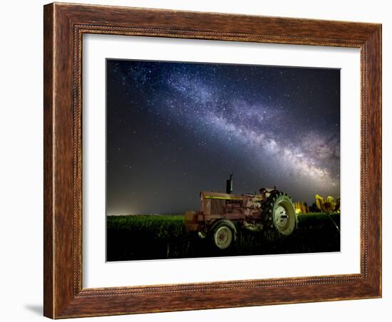
[[381,296],[381,25],[44,6],[44,315]]

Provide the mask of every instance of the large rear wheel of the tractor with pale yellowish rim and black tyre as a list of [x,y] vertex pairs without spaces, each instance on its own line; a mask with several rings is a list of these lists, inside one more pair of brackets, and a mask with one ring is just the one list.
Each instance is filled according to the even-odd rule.
[[284,235],[292,234],[296,227],[296,212],[292,199],[283,192],[274,192],[269,196],[264,211],[271,227]]

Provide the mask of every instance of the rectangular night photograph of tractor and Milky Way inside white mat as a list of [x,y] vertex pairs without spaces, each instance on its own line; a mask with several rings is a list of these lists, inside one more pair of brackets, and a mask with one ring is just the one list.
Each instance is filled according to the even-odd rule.
[[108,59],[106,84],[107,261],[340,251],[339,69]]

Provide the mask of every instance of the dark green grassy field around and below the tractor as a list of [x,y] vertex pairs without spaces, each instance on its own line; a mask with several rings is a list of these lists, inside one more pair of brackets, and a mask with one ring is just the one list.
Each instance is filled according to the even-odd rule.
[[[340,214],[331,214],[340,226]],[[229,253],[215,251],[210,239],[190,235],[182,215],[108,216],[108,261],[179,259],[210,256],[296,254],[340,250],[340,234],[327,214],[299,215],[289,236],[274,229],[249,232],[237,229],[237,243]]]

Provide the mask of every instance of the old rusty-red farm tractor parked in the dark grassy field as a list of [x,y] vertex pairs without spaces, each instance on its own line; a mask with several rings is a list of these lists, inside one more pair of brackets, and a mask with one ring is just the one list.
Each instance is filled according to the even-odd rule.
[[282,235],[292,234],[297,216],[291,197],[276,187],[261,188],[259,194],[233,194],[233,175],[226,182],[226,193],[200,192],[199,212],[185,213],[185,229],[208,238],[217,251],[232,249],[237,229],[252,232],[277,229]]

